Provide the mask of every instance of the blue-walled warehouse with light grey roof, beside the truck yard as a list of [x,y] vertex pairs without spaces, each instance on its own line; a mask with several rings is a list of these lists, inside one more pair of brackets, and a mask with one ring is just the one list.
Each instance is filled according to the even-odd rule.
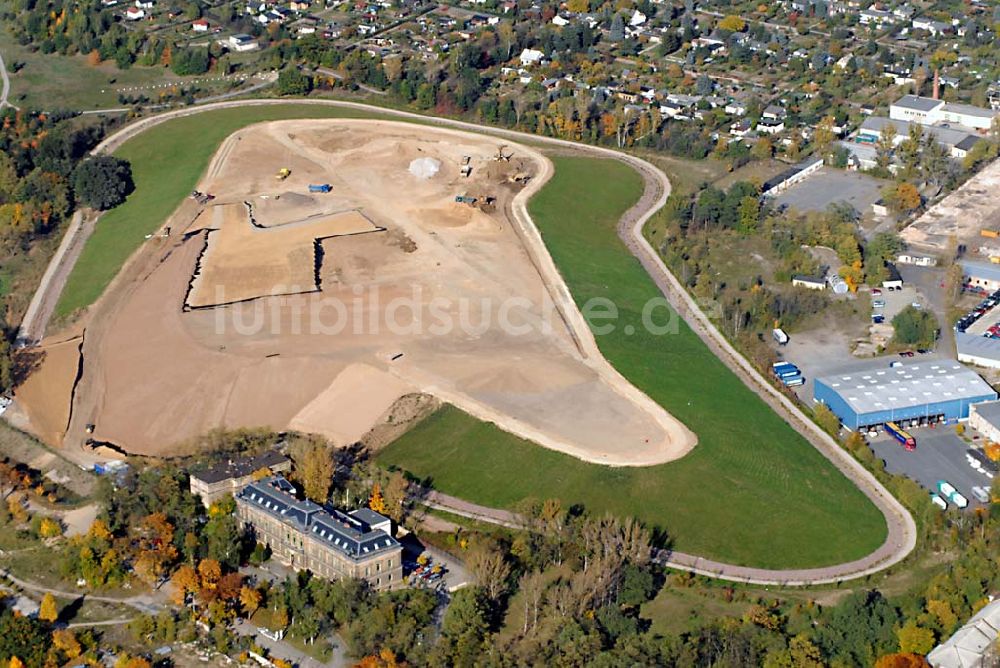
[[964,420],[969,406],[997,398],[986,381],[950,360],[883,364],[817,378],[813,400],[826,404],[848,429],[868,430],[886,422]]

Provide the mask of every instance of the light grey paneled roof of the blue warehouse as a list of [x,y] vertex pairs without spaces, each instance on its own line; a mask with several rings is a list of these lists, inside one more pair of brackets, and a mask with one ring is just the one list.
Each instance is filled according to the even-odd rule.
[[924,404],[996,397],[973,371],[952,360],[879,366],[818,378],[837,392],[858,415]]

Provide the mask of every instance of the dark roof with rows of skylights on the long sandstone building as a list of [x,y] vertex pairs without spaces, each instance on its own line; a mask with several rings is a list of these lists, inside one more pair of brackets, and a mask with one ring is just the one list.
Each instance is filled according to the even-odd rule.
[[372,520],[381,518],[385,522],[385,517],[374,511],[348,514],[300,500],[292,484],[281,476],[247,485],[236,495],[236,501],[255,506],[297,531],[312,534],[351,559],[367,559],[399,546],[385,531],[371,527]]

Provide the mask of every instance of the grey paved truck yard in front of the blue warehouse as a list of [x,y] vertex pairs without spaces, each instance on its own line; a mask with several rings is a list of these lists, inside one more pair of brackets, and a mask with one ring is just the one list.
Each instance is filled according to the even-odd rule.
[[869,439],[872,451],[885,462],[886,470],[905,475],[935,492],[938,481],[947,480],[969,500],[970,508],[982,505],[976,501],[972,488],[989,490],[992,480],[969,465],[966,460],[969,444],[955,433],[954,426],[921,427],[909,432],[917,441],[912,452],[885,433]]

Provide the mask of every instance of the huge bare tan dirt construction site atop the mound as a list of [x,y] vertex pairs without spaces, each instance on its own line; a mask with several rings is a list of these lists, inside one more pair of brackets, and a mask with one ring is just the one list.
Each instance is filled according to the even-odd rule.
[[67,447],[87,425],[150,455],[219,426],[348,445],[423,392],[587,461],[683,456],[694,435],[600,356],[527,218],[551,163],[498,144],[369,120],[232,135],[198,186],[215,199],[87,316]]

